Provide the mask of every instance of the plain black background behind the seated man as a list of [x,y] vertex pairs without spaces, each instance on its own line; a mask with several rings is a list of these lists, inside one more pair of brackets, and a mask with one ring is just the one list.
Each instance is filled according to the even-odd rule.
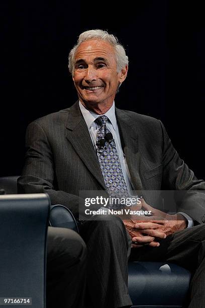
[[[116,105],[161,119],[181,158],[205,177],[202,2],[1,2],[1,176],[19,175],[31,121],[77,99],[69,50],[85,30],[116,35],[130,60]],[[151,145],[150,145],[151,146]]]

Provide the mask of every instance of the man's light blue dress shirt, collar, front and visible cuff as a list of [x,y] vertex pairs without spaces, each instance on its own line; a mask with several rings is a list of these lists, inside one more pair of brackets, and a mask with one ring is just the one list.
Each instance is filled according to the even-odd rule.
[[[82,113],[82,116],[87,124],[87,128],[90,134],[90,138],[92,140],[92,144],[96,150],[96,136],[97,136],[97,124],[95,123],[95,120],[100,116],[88,109],[86,109],[79,101],[79,107],[80,111]],[[113,137],[115,139],[116,143],[116,148],[118,150],[118,155],[120,158],[121,162],[121,168],[123,172],[123,176],[125,179],[125,183],[128,188],[128,193],[131,196],[132,195],[132,180],[130,177],[130,172],[128,169],[128,165],[126,162],[126,157],[123,152],[122,144],[121,144],[121,138],[120,138],[120,132],[117,124],[117,119],[116,119],[116,114],[115,114],[115,102],[113,102],[112,107],[104,114],[108,117],[108,122],[107,122],[107,127],[113,134]],[[178,214],[183,215],[187,220],[188,220],[188,226],[191,227],[193,226],[193,221],[192,219],[185,213],[183,212],[178,212]]]

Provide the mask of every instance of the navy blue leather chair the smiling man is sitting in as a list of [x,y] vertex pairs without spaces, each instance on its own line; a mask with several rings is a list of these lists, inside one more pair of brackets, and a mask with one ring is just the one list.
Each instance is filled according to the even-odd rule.
[[[0,178],[0,188],[17,192],[17,178]],[[2,185],[2,181],[5,185]],[[11,190],[10,190],[11,189]],[[63,205],[50,207],[52,226],[72,228],[78,232],[72,213]],[[133,307],[185,308],[187,306],[190,272],[171,263],[129,262],[128,288]]]

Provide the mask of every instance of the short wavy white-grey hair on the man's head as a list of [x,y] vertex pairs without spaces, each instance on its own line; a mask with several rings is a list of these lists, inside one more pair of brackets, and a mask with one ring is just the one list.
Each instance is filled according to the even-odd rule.
[[88,30],[79,35],[77,44],[70,50],[70,53],[68,56],[68,68],[72,75],[74,72],[75,53],[76,53],[78,46],[82,42],[92,40],[92,39],[99,39],[99,40],[107,41],[115,48],[117,72],[120,72],[122,68],[128,65],[128,56],[125,53],[125,48],[119,43],[117,37],[115,37],[113,34],[109,34],[107,31],[103,31],[99,29]]

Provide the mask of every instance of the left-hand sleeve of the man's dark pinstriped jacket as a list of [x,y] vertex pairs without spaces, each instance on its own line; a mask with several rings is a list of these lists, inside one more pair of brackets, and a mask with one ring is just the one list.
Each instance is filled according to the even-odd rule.
[[43,128],[32,122],[26,131],[26,160],[18,179],[19,193],[47,193],[51,204],[63,204],[74,215],[78,214],[80,198],[55,190],[56,177],[52,149]]

